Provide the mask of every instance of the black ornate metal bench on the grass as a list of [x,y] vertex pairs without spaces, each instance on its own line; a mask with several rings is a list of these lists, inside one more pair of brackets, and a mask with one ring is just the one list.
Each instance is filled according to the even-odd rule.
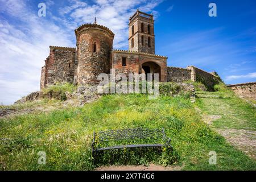
[[[96,142],[97,138],[97,142]],[[114,140],[133,140],[133,139],[152,139],[152,138],[162,138],[164,144],[154,143],[154,144],[124,144],[119,146],[109,146],[97,148],[97,143],[100,142],[110,142]],[[119,148],[135,148],[135,147],[162,147],[170,146],[171,139],[166,137],[164,129],[121,129],[121,130],[107,130],[100,131],[96,134],[93,132],[93,142],[92,142],[92,155],[94,156],[97,151],[112,150]]]

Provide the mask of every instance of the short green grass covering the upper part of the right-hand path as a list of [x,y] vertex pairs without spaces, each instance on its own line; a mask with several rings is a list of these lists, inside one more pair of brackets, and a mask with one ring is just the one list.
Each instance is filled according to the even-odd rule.
[[[197,106],[203,114],[221,115],[213,122],[217,128],[256,129],[256,109],[245,100],[238,98],[231,90],[222,87],[218,92],[196,92]],[[217,96],[217,98],[211,98]]]

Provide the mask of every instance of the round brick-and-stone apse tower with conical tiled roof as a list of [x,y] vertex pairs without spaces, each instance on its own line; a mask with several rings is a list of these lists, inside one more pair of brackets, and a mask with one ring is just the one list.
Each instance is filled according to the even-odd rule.
[[83,24],[75,30],[77,84],[97,84],[100,73],[110,72],[110,53],[114,34],[109,28],[94,24]]

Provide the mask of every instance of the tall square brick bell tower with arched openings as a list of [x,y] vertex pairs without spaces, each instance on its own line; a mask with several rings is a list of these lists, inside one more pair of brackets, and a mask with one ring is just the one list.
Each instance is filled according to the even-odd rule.
[[137,10],[129,19],[129,51],[155,54],[153,15]]

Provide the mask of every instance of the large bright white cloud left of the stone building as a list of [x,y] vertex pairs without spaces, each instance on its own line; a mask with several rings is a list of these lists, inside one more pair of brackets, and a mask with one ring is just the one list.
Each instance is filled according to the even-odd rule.
[[18,5],[14,1],[1,4],[6,10],[3,12],[19,21],[11,24],[6,19],[0,20],[5,27],[0,29],[3,52],[0,54],[0,102],[11,104],[39,90],[41,67],[49,55],[50,45],[72,46],[73,43],[70,35],[54,23],[32,14],[23,1]]

